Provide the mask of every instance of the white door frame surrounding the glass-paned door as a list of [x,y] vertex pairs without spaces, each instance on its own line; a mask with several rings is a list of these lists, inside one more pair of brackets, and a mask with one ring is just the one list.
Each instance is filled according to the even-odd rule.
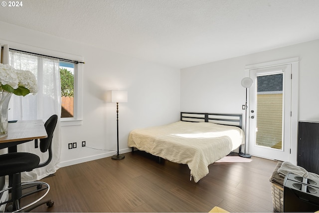
[[[290,162],[297,165],[297,142],[298,142],[298,120],[299,120],[299,57],[294,58],[288,58],[283,60],[276,60],[276,61],[270,61],[270,62],[264,62],[264,63],[258,63],[258,64],[251,64],[245,66],[245,77],[250,76],[250,70],[251,69],[260,69],[260,68],[268,68],[272,66],[280,66],[280,65],[287,65],[291,64],[291,71],[292,71],[292,82],[291,82],[291,92],[292,92],[292,100],[291,100],[291,155],[290,155]],[[247,111],[250,112],[250,89],[249,93],[247,95],[249,98],[248,100],[248,109]],[[249,119],[249,113],[247,113],[247,126],[250,125],[250,119]],[[245,127],[246,129],[246,127]],[[249,128],[246,129],[247,135],[249,134]],[[249,147],[249,137],[246,137],[246,148]],[[249,149],[248,149],[249,153]]]

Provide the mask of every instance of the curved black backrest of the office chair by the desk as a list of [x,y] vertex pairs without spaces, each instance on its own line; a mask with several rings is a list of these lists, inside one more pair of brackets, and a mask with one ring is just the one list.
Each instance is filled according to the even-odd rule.
[[48,165],[52,160],[52,138],[53,138],[53,132],[56,126],[58,120],[57,115],[52,115],[45,123],[44,127],[46,130],[46,134],[48,135],[47,138],[41,138],[40,139],[40,150],[41,152],[49,152],[49,157],[44,163],[40,163],[37,168],[44,167]]

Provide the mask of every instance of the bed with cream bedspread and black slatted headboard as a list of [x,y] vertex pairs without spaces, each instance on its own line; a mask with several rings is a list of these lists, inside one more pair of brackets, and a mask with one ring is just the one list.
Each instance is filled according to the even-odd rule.
[[[180,121],[135,129],[128,146],[168,161],[187,164],[197,183],[208,166],[244,144],[241,114],[181,112]],[[239,151],[240,152],[240,151]]]

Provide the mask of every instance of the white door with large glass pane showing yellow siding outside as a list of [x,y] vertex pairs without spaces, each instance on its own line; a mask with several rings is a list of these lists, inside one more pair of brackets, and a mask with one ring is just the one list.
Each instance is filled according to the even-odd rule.
[[250,70],[249,151],[290,161],[291,65]]

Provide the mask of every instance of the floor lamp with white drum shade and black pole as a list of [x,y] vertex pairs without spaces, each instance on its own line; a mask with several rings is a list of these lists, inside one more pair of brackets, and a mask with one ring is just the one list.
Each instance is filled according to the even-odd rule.
[[119,103],[128,102],[128,92],[127,91],[118,91],[118,90],[110,90],[107,91],[106,94],[107,102],[116,103],[116,122],[117,122],[117,154],[113,155],[111,158],[113,160],[122,160],[125,158],[124,155],[120,155],[119,151]]

